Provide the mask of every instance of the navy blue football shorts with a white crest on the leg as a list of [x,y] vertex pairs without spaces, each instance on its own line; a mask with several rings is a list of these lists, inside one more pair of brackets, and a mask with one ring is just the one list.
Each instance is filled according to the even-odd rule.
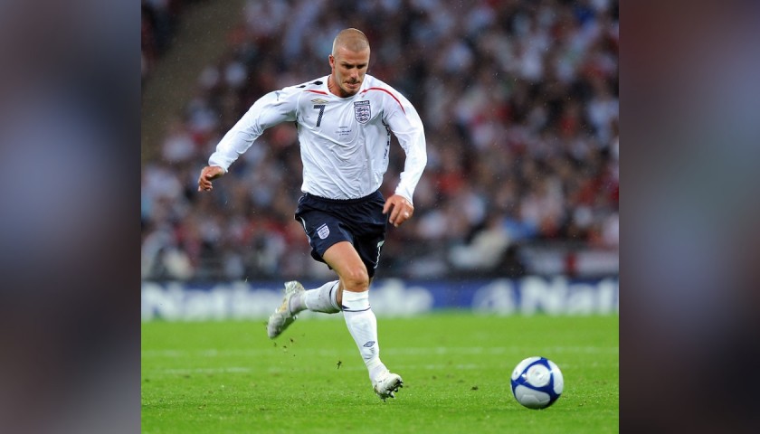
[[340,241],[354,245],[369,277],[375,276],[380,249],[385,242],[387,216],[385,198],[379,191],[360,199],[325,199],[305,193],[299,199],[296,221],[303,225],[311,246],[311,257],[322,255]]

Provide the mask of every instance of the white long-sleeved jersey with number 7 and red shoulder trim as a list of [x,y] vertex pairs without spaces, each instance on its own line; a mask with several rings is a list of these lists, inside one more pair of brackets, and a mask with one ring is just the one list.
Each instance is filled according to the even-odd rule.
[[227,171],[266,128],[286,121],[298,125],[304,193],[329,199],[374,193],[388,168],[393,132],[406,153],[395,193],[412,202],[427,163],[423,122],[408,99],[368,74],[348,98],[328,90],[328,76],[264,95],[224,135],[209,165]]

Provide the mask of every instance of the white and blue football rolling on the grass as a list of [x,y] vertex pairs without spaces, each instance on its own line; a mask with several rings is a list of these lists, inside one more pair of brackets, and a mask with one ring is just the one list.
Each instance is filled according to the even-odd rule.
[[562,394],[562,371],[545,357],[528,357],[512,371],[512,394],[528,409],[546,409]]

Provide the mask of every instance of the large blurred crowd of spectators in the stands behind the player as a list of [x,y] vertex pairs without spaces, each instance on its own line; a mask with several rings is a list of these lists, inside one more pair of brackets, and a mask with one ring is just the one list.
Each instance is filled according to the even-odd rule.
[[[366,33],[369,73],[412,101],[427,137],[414,217],[389,229],[378,277],[516,277],[534,271],[521,251],[535,245],[616,254],[616,1],[251,0],[143,167],[143,278],[327,275],[293,220],[293,125],[268,130],[213,192],[196,183],[256,99],[329,73],[346,27]],[[390,157],[386,195],[404,152]]]

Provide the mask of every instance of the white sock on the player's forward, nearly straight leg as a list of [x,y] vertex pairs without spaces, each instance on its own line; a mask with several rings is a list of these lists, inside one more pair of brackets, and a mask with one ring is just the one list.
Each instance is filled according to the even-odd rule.
[[387,368],[380,362],[380,344],[377,343],[377,318],[369,306],[369,291],[343,291],[343,316],[348,332],[354,338],[366,364],[369,379],[373,382]]

